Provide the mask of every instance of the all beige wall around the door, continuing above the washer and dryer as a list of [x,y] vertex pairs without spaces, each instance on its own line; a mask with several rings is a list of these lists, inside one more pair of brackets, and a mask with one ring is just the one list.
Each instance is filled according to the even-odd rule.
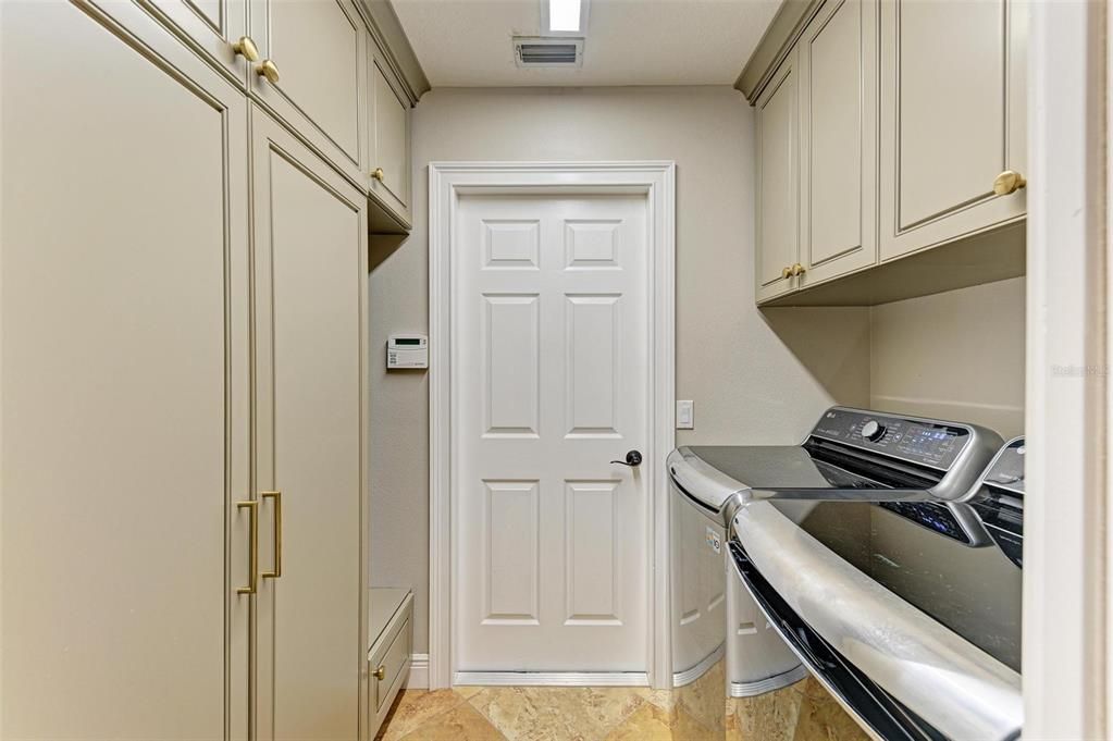
[[427,646],[429,385],[384,370],[392,332],[427,329],[433,160],[677,162],[681,444],[795,443],[833,403],[1020,434],[1024,280],[869,308],[754,303],[754,117],[725,87],[440,89],[414,111],[414,229],[372,244],[372,581],[415,593]]

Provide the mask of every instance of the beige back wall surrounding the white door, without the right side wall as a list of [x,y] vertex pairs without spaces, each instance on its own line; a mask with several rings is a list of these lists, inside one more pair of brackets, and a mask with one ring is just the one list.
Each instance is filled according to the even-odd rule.
[[[372,581],[412,586],[427,646],[424,373],[384,369],[392,332],[427,328],[431,160],[677,162],[677,393],[696,443],[798,442],[828,405],[869,402],[864,308],[754,304],[754,116],[728,87],[439,89],[414,110],[414,229],[372,246]],[[782,342],[780,337],[788,338]]]

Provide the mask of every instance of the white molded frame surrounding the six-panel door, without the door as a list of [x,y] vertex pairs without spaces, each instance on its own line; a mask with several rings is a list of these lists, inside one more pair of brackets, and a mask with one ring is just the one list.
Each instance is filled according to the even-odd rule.
[[[430,162],[429,166],[429,330],[430,330],[430,539],[429,685],[452,685],[452,358],[450,313],[453,224],[463,194],[644,194],[651,255],[649,286],[651,431],[646,484],[650,494],[647,542],[649,682],[671,678],[669,640],[668,477],[664,457],[676,445],[676,164],[664,160],[599,162]],[[657,465],[660,463],[661,465]],[[533,684],[568,684],[571,674],[538,674]],[[605,675],[582,674],[599,684]],[[523,683],[519,675],[516,683]]]

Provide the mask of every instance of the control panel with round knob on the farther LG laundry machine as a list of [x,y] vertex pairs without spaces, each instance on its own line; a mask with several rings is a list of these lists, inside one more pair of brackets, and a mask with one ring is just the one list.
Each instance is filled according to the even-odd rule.
[[811,435],[944,471],[971,439],[969,428],[953,423],[839,407],[824,413]]

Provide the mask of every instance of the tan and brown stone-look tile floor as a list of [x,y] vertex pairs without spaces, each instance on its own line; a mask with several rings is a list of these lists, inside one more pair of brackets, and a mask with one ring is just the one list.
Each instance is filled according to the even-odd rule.
[[[713,672],[709,672],[712,674]],[[700,682],[697,682],[699,684]],[[700,693],[702,694],[702,693]],[[381,741],[865,741],[814,680],[731,700],[716,719],[682,691],[644,688],[406,690]],[[706,695],[705,695],[706,698]],[[721,701],[720,701],[721,702]]]

